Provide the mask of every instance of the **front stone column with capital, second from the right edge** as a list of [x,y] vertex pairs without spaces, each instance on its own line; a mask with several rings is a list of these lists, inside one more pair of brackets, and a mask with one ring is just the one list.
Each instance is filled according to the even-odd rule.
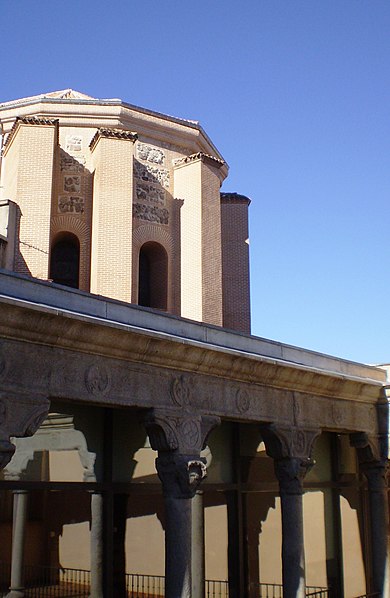
[[262,426],[267,454],[274,459],[282,508],[283,597],[304,598],[305,549],[303,539],[303,479],[318,430]]

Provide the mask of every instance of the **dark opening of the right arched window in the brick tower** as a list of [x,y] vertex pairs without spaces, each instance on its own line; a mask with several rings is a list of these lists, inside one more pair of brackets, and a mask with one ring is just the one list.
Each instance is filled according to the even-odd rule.
[[168,256],[164,247],[152,241],[139,252],[138,305],[167,309]]

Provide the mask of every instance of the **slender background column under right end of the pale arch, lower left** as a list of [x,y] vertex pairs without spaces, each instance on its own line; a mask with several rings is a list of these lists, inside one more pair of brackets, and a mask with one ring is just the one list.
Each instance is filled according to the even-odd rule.
[[103,495],[91,494],[91,597],[103,598]]

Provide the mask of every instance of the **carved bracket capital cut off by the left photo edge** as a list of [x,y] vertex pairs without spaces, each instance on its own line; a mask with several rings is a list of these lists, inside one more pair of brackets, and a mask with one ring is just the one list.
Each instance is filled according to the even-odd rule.
[[0,393],[0,469],[8,465],[15,452],[10,439],[32,436],[47,417],[49,407],[46,397]]

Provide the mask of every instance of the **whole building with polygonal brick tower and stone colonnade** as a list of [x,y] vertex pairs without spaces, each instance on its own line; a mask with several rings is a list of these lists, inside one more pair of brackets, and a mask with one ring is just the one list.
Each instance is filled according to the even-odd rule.
[[389,598],[385,368],[250,335],[199,123],[0,104],[0,594]]

